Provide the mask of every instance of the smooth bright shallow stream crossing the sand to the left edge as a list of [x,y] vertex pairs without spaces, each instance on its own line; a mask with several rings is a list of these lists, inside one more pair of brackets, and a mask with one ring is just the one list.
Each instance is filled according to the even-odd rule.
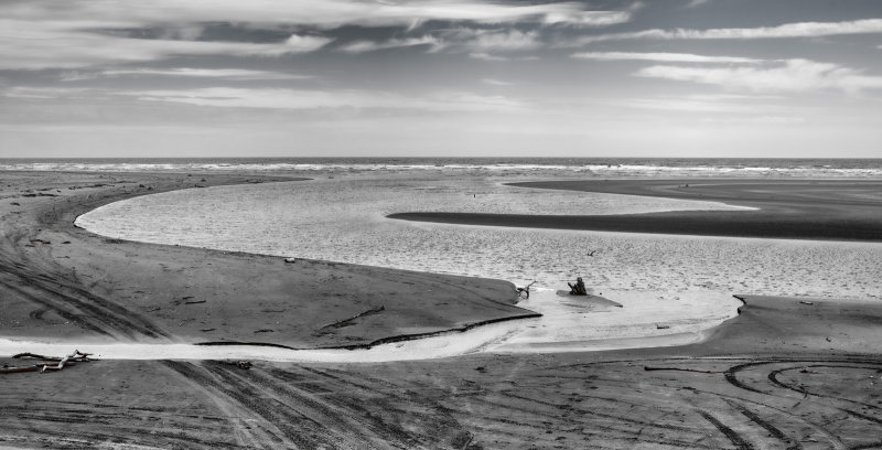
[[[596,297],[561,298],[551,290],[540,289],[528,301],[531,307],[548,309],[544,303],[562,304],[552,308],[542,318],[506,321],[476,326],[465,332],[448,332],[413,341],[402,341],[376,345],[369,350],[288,350],[257,345],[204,346],[170,343],[104,343],[104,342],[40,342],[0,339],[0,355],[36,353],[65,355],[73,350],[89,353],[103,360],[247,360],[309,362],[309,363],[377,363],[389,361],[413,361],[462,356],[482,352],[493,353],[549,353],[574,351],[601,351],[614,349],[635,349],[644,346],[684,345],[701,339],[706,326],[693,323],[691,331],[664,332],[628,336],[619,321],[607,321],[609,313],[625,311],[625,315],[636,319],[632,326],[646,324],[641,318],[639,308],[631,308],[626,301],[615,306]],[[585,321],[588,314],[593,320]],[[676,315],[676,312],[674,312]],[[652,320],[674,319],[671,311],[654,317]],[[680,319],[680,318],[677,318]],[[722,318],[721,318],[722,320]],[[584,326],[591,322],[590,329]],[[674,323],[666,322],[666,323]],[[576,330],[584,329],[582,332]],[[587,332],[585,332],[587,331]]]

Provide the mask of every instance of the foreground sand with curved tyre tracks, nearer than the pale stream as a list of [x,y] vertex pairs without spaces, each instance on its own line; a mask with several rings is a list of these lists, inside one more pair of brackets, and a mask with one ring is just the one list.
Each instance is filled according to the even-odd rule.
[[[82,448],[882,446],[878,304],[746,297],[701,344],[379,364],[98,361],[4,376],[0,443]],[[8,360],[7,360],[8,361]]]

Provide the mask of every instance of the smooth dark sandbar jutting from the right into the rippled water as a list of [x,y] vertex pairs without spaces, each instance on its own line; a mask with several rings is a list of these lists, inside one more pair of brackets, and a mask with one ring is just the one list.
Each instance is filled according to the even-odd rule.
[[411,212],[391,218],[467,225],[789,239],[882,240],[882,182],[807,180],[589,180],[512,183],[668,199],[718,201],[755,211],[560,215]]

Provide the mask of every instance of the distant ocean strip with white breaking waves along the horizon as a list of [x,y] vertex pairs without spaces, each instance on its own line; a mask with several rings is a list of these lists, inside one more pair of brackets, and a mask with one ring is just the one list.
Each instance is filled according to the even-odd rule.
[[882,159],[204,158],[0,159],[0,170],[165,172],[455,172],[580,176],[882,178]]

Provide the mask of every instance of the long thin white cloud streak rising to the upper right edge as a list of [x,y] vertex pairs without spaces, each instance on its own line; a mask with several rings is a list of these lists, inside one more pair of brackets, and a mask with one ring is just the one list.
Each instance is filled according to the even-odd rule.
[[644,30],[630,33],[611,33],[594,36],[584,36],[578,40],[580,44],[601,41],[619,41],[630,39],[655,40],[750,40],[750,39],[784,39],[784,38],[818,38],[841,34],[869,34],[882,33],[882,19],[864,19],[846,22],[797,22],[778,26],[761,28],[729,28],[729,29],[675,29],[675,30]]

